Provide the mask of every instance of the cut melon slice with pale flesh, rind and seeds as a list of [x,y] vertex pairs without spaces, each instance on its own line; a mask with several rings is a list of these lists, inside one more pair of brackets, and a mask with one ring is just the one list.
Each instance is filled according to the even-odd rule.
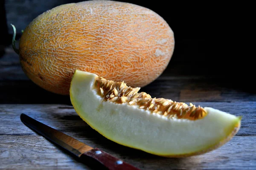
[[139,90],[76,70],[70,99],[81,119],[106,138],[159,156],[206,153],[229,141],[239,130],[239,116],[151,98]]

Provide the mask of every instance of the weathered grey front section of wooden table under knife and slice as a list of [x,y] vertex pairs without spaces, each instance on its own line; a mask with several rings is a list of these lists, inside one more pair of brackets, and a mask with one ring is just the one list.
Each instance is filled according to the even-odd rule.
[[183,159],[163,158],[112,142],[76,114],[70,105],[0,105],[0,169],[90,169],[20,121],[26,113],[91,147],[142,170],[256,169],[256,102],[195,102],[243,116],[236,136],[212,152]]

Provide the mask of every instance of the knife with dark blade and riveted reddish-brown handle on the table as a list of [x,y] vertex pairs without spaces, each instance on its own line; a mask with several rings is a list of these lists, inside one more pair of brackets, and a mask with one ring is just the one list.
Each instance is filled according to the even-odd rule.
[[35,130],[49,141],[73,154],[84,164],[108,170],[139,170],[137,167],[111,156],[103,150],[90,147],[65,133],[32,119],[24,113],[20,114],[20,120],[30,129]]

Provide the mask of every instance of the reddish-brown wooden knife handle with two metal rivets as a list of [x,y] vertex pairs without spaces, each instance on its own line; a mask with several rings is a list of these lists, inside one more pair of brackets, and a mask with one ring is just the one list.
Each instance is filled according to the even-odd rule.
[[108,170],[139,170],[137,167],[134,167],[121,159],[117,159],[116,157],[111,156],[98,148],[94,148],[83,153],[80,156],[80,161],[84,162],[85,164],[90,163],[90,165],[93,166],[97,165],[95,163],[95,161],[97,161],[98,164],[100,163],[101,166],[103,165]]

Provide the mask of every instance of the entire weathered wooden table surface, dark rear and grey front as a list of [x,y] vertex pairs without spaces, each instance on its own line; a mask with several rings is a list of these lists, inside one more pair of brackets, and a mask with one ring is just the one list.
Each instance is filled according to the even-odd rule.
[[21,70],[17,54],[11,48],[5,51],[0,58],[0,169],[90,169],[23,125],[21,113],[142,170],[256,169],[256,94],[226,76],[183,72],[189,67],[171,62],[157,80],[141,89],[153,97],[192,102],[243,116],[237,135],[222,147],[200,156],[163,158],[101,136],[80,119],[69,96],[39,88]]

